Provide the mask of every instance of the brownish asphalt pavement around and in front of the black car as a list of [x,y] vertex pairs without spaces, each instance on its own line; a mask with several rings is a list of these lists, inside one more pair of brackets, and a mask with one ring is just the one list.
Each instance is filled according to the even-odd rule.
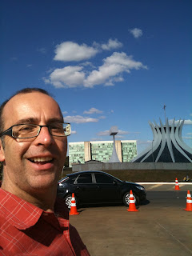
[[81,208],[79,215],[70,216],[90,255],[192,255],[192,211],[183,210],[192,184],[179,191],[174,184],[144,186],[148,200],[138,212],[100,206]]

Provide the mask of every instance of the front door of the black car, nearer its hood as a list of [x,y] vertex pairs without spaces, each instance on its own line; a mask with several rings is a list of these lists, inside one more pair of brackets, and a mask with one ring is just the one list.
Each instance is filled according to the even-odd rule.
[[97,184],[97,200],[100,202],[121,202],[121,193],[118,181],[107,174],[95,173]]

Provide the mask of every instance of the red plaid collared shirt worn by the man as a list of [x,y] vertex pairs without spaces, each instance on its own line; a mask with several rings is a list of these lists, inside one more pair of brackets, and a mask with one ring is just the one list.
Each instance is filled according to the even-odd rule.
[[90,255],[58,202],[48,213],[0,188],[0,255]]

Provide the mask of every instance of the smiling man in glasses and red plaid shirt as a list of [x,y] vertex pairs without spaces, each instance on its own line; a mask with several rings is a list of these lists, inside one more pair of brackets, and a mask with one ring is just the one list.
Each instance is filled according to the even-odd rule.
[[2,103],[0,255],[90,255],[56,199],[69,134],[45,90],[26,88]]

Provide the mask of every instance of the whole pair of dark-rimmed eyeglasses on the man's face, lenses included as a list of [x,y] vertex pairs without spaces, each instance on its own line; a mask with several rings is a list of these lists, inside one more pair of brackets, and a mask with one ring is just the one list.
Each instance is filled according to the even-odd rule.
[[70,135],[71,126],[67,122],[56,122],[48,126],[39,126],[34,124],[19,124],[11,126],[9,129],[5,130],[0,134],[9,135],[13,138],[34,138],[40,133],[42,127],[47,127],[50,134],[56,137],[66,137]]

